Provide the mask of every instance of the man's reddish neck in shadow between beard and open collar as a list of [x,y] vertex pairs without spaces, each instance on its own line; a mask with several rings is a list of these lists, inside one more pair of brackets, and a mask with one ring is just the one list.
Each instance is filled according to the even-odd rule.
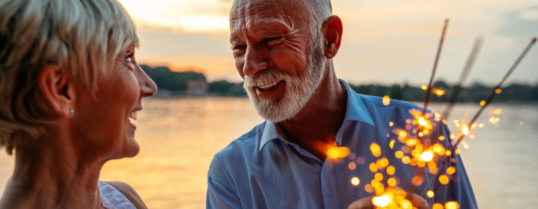
[[336,140],[348,100],[346,88],[338,81],[332,63],[328,66],[320,86],[305,107],[292,119],[278,123],[287,140],[321,160]]

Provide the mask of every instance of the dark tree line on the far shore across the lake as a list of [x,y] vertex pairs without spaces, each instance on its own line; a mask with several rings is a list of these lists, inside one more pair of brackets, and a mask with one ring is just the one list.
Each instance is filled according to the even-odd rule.
[[[157,84],[159,89],[168,89],[172,92],[178,92],[182,95],[188,88],[189,81],[204,81],[207,82],[206,76],[202,73],[194,71],[175,72],[168,67],[150,67],[141,64],[140,67],[148,76]],[[357,93],[364,95],[372,95],[383,97],[389,96],[391,99],[405,101],[420,101],[424,99],[426,91],[421,87],[415,87],[405,84],[351,84],[350,87]],[[453,85],[438,80],[433,84],[436,89],[445,91],[444,96],[430,97],[432,102],[448,102],[452,93]],[[461,89],[458,97],[458,102],[480,102],[484,100],[494,87],[484,85],[479,82],[472,83]],[[210,96],[232,96],[246,97],[246,92],[243,89],[243,83],[233,83],[226,80],[208,82],[208,94]],[[501,93],[495,96],[497,102],[533,102],[538,101],[538,83],[534,86],[529,84],[508,84],[502,87]]]

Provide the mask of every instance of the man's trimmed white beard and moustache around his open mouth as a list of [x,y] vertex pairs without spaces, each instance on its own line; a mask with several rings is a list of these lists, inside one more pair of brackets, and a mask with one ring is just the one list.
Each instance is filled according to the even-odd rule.
[[[299,113],[310,100],[323,78],[325,58],[320,48],[319,36],[308,49],[308,68],[302,76],[289,76],[277,69],[265,69],[255,77],[245,76],[243,88],[254,104],[258,114],[265,120],[280,122],[291,119]],[[285,81],[284,95],[280,100],[261,99],[256,94],[256,86]]]

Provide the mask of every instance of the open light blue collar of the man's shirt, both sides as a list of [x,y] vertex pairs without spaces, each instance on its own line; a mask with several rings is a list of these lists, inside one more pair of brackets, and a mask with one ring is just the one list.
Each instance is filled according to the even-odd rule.
[[[348,82],[345,82],[342,79],[338,79],[338,81],[345,85],[346,92],[348,93],[348,104],[346,106],[344,122],[348,120],[356,120],[375,126],[362,98],[351,89]],[[261,151],[267,142],[273,139],[284,139],[284,136],[280,133],[280,127],[278,127],[278,125],[270,121],[265,121],[265,128],[261,135],[259,151]]]

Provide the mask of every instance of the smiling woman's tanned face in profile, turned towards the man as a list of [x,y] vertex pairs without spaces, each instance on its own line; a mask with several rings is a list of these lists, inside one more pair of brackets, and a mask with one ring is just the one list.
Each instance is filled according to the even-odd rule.
[[[97,81],[96,98],[80,89],[76,93],[74,139],[81,140],[82,154],[105,160],[132,157],[139,152],[134,140],[136,112],[141,99],[152,96],[157,85],[134,59],[134,46],[117,55],[114,64]],[[85,153],[87,152],[87,153]]]

